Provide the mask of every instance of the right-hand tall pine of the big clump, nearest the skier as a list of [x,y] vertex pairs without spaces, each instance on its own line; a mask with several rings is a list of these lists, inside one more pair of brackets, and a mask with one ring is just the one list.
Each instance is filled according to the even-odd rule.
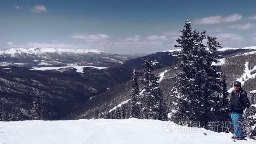
[[[202,38],[204,38],[205,31],[203,32]],[[201,125],[204,128],[208,128],[209,122],[217,122],[221,120],[227,120],[227,116],[229,113],[226,111],[224,113],[225,117],[222,117],[221,115],[221,109],[223,108],[223,105],[221,105],[222,102],[222,94],[223,94],[223,88],[222,88],[222,81],[221,81],[221,65],[212,65],[214,63],[218,63],[218,59],[221,58],[221,56],[216,55],[217,48],[221,48],[221,44],[216,41],[216,37],[207,36],[207,48],[208,50],[203,47],[203,42],[200,42],[201,48],[203,49],[200,52],[201,57],[203,57],[203,67],[202,71],[205,72],[205,77],[203,78],[202,87],[203,90],[203,97],[201,101],[203,103],[201,104],[201,110],[199,119],[202,119]],[[226,86],[227,88],[227,86]],[[226,97],[227,98],[227,97]],[[227,99],[225,99],[227,102]],[[228,105],[225,106],[226,108]],[[227,110],[227,109],[226,109]]]

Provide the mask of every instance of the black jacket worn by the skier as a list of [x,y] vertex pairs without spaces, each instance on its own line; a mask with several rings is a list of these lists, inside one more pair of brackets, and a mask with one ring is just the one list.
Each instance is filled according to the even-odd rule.
[[239,91],[233,90],[230,96],[230,106],[229,109],[231,111],[243,114],[243,109],[245,107],[249,108],[251,105],[246,91],[240,88]]

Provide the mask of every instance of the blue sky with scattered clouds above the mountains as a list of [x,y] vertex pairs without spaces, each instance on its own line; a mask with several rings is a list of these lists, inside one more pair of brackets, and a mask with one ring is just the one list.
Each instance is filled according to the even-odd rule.
[[256,46],[255,0],[1,0],[0,50],[58,47],[109,53],[175,49],[186,19],[223,47]]

